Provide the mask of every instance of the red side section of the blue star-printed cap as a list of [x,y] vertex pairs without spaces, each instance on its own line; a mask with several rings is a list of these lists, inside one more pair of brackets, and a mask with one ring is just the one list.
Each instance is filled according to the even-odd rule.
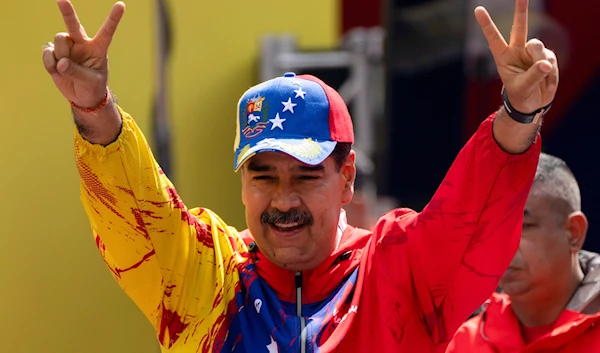
[[300,75],[298,78],[316,82],[325,91],[325,95],[327,95],[327,99],[329,100],[329,133],[331,139],[337,142],[354,143],[352,119],[342,96],[315,76]]

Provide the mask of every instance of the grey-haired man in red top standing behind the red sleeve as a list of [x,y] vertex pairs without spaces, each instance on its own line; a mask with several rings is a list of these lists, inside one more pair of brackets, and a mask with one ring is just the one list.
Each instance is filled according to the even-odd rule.
[[563,160],[542,153],[502,293],[446,352],[600,352],[600,255],[581,250],[587,229],[577,180]]

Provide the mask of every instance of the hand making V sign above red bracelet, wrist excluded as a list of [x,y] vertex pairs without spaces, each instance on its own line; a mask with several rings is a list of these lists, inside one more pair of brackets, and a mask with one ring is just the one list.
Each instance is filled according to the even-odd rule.
[[108,48],[125,4],[117,2],[93,38],[87,36],[69,0],[58,0],[67,32],[43,47],[43,61],[54,84],[70,102],[82,108],[100,105],[107,94]]

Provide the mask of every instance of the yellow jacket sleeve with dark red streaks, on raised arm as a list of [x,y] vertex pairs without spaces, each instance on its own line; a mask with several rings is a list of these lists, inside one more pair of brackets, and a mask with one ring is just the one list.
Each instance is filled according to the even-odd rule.
[[94,145],[75,132],[81,201],[96,245],[154,325],[163,350],[183,341],[190,349],[200,341],[211,346],[210,336],[226,329],[219,326],[234,300],[235,264],[246,246],[210,210],[185,207],[144,135],[119,110],[123,127],[112,144]]

